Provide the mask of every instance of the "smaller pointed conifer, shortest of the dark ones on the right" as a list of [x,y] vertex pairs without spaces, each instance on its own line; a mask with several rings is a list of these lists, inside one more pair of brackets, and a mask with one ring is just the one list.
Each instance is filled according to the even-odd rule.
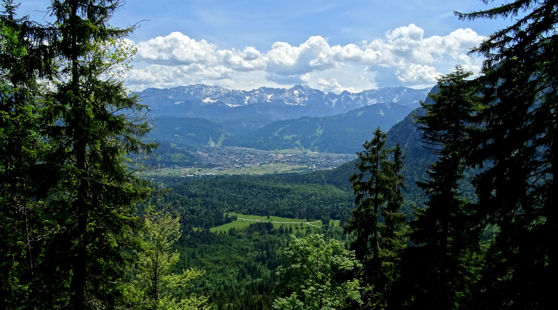
[[[405,248],[401,235],[405,215],[398,212],[403,202],[400,173],[403,156],[400,146],[386,148],[386,133],[379,127],[374,130],[372,141],[366,141],[363,147],[364,152],[357,152],[360,162],[356,167],[360,173],[350,177],[357,208],[345,231],[355,234],[351,247],[362,260],[364,283],[371,289],[369,298],[382,307],[388,285],[396,276],[398,251]],[[392,152],[395,161],[389,159]],[[383,222],[378,222],[380,215]]]

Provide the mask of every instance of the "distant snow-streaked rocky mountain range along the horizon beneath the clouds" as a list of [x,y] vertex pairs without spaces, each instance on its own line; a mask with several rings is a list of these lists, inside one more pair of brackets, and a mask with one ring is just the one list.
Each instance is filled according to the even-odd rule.
[[205,118],[228,129],[251,130],[276,120],[339,115],[376,103],[419,106],[430,88],[385,87],[340,94],[294,85],[289,89],[261,87],[250,91],[203,84],[136,93],[155,116]]

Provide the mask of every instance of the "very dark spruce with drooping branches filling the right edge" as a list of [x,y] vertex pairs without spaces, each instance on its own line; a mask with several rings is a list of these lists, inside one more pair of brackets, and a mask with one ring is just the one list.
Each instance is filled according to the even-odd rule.
[[[488,3],[488,1],[484,1]],[[514,18],[472,53],[484,57],[477,92],[484,105],[466,160],[487,168],[474,180],[478,225],[496,225],[474,304],[552,307],[556,275],[558,6],[517,0],[461,20]]]

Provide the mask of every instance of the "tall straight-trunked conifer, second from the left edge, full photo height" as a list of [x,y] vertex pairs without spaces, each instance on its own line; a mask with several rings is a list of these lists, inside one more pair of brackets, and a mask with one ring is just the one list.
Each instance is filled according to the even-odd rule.
[[56,204],[74,219],[61,245],[68,247],[69,307],[74,309],[117,302],[119,292],[110,281],[123,277],[119,245],[131,242],[133,205],[149,192],[123,164],[127,154],[149,152],[151,146],[137,138],[150,128],[145,119],[129,117],[145,106],[128,96],[123,80],[113,74],[131,55],[122,39],[133,28],[108,24],[121,5],[54,0],[50,7],[55,22],[49,43],[60,64],[50,112],[63,124],[50,138],[67,146],[61,190],[69,195],[60,195]]

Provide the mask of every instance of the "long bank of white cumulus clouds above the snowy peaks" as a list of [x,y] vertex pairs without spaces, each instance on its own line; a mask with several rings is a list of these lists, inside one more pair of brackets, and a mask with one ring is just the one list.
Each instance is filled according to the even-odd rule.
[[[149,64],[145,69],[133,70],[130,80],[143,84],[169,84],[171,80],[196,81],[234,79],[240,72],[252,72],[277,84],[314,84],[320,88],[339,91],[335,79],[311,79],[319,72],[351,67],[347,72],[359,81],[368,80],[375,87],[379,80],[394,81],[399,85],[434,84],[440,75],[437,66],[452,68],[461,64],[478,72],[480,61],[465,53],[483,40],[473,30],[460,28],[445,36],[425,37],[424,31],[411,24],[385,33],[384,38],[358,44],[330,46],[321,36],[292,46],[275,42],[267,52],[247,46],[243,50],[223,49],[206,40],[195,41],[180,32],[137,43],[134,61]],[[316,73],[318,72],[318,73]],[[378,72],[382,72],[379,74]],[[382,76],[382,75],[389,76]],[[319,75],[318,75],[319,76]],[[347,80],[345,77],[344,80]],[[184,82],[182,82],[184,83]]]

